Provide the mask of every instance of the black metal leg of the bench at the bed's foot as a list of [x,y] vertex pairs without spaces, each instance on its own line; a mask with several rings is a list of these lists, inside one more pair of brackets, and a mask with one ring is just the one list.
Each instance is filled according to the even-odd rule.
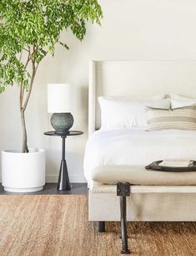
[[128,230],[127,230],[127,198],[130,196],[130,184],[118,183],[117,195],[120,197],[120,225],[122,238],[122,254],[129,254],[128,249]]

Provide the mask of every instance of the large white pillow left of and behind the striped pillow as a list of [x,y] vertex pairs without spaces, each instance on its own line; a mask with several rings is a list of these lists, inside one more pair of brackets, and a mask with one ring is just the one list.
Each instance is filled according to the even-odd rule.
[[113,97],[98,97],[101,109],[101,129],[123,127],[147,127],[145,107],[170,108],[170,99],[128,100]]

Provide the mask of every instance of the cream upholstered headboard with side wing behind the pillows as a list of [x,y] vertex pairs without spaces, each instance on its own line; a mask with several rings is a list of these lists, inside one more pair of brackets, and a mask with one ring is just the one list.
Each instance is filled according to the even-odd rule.
[[88,133],[100,128],[98,96],[176,93],[196,98],[196,61],[90,61]]

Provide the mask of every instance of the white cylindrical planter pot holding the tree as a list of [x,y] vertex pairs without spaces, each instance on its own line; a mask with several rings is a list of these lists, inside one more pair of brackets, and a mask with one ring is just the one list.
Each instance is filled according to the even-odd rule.
[[45,150],[2,151],[2,184],[8,192],[37,192],[45,185]]

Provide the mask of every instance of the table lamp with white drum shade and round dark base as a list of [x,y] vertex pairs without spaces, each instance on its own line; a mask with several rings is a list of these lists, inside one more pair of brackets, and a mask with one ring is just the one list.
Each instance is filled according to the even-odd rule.
[[65,134],[73,126],[73,86],[48,84],[48,113],[53,113],[51,125],[57,133]]

